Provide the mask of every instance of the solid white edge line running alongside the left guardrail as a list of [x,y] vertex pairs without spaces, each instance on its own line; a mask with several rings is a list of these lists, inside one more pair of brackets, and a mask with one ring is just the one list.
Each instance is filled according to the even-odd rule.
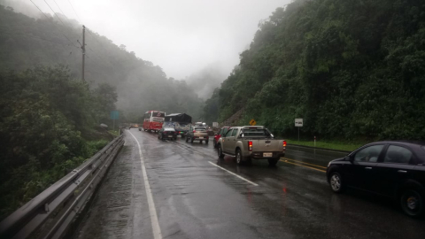
[[148,205],[149,205],[149,213],[151,214],[151,225],[152,225],[152,233],[153,238],[159,239],[162,238],[161,235],[161,227],[159,227],[157,211],[155,209],[155,203],[153,202],[151,185],[149,184],[148,174],[146,173],[146,167],[144,166],[144,159],[142,155],[142,148],[140,147],[139,141],[135,138],[135,135],[131,134],[135,139],[135,143],[137,143],[137,147],[139,148],[139,156],[140,156],[140,164],[142,165],[142,173],[143,173],[143,181],[144,181],[144,189],[146,189],[146,197],[148,197]]

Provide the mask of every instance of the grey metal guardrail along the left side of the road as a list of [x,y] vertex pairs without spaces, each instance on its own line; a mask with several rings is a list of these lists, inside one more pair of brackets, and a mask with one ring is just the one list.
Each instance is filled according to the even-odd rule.
[[0,238],[61,238],[124,144],[123,135],[0,222]]

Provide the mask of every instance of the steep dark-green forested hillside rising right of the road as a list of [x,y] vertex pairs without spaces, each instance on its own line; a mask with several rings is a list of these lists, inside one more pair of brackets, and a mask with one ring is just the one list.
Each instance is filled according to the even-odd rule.
[[205,117],[244,108],[241,124],[279,135],[303,118],[304,135],[425,139],[424,39],[421,0],[295,1],[259,24]]

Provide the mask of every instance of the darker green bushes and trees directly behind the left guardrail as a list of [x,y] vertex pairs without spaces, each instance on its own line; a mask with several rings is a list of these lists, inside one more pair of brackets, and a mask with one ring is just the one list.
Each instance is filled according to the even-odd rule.
[[65,66],[0,72],[0,218],[104,147],[94,129],[115,89],[73,80]]

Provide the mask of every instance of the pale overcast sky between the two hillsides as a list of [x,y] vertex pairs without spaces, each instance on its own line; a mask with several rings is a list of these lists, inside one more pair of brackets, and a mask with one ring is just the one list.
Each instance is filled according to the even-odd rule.
[[[115,44],[184,79],[220,62],[225,73],[239,63],[261,19],[290,0],[33,0],[43,12],[58,6]],[[31,4],[29,0],[26,1]],[[75,9],[76,14],[73,12]],[[224,80],[224,79],[223,79]]]

